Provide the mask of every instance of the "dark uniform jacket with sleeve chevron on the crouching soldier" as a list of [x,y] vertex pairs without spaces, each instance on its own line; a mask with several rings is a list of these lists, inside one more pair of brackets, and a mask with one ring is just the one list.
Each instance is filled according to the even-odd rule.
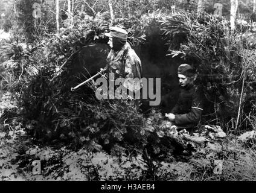
[[181,87],[179,99],[171,110],[175,115],[174,124],[178,128],[194,128],[200,122],[203,112],[202,89],[193,84]]

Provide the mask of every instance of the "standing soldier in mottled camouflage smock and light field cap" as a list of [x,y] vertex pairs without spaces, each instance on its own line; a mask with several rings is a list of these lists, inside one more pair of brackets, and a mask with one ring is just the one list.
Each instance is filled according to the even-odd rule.
[[111,48],[107,55],[107,74],[114,73],[116,78],[125,78],[123,86],[133,92],[141,88],[141,84],[130,82],[129,78],[141,78],[141,60],[127,42],[127,31],[120,27],[110,27],[107,42]]

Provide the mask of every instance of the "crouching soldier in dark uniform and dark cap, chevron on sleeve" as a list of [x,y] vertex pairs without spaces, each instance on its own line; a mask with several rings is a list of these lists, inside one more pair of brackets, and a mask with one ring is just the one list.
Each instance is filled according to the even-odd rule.
[[[178,78],[181,90],[179,99],[170,113],[165,116],[173,122],[178,130],[196,128],[200,122],[203,112],[203,93],[202,89],[194,86],[197,74],[195,69],[182,64],[178,68]],[[188,130],[189,131],[189,130]]]

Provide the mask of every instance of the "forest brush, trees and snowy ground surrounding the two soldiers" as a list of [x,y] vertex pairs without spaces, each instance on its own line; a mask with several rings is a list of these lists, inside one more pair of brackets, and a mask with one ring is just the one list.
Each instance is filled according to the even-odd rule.
[[[249,142],[237,136],[256,124],[256,1],[13,0],[0,7],[9,36],[0,47],[2,180],[255,179],[255,134]],[[98,101],[93,82],[70,91],[106,65],[111,25],[128,31],[143,76],[161,77],[159,107]],[[181,63],[199,72],[201,124],[228,135],[192,156],[180,156],[176,140],[162,141]],[[33,174],[34,160],[42,175]],[[222,174],[214,174],[214,160],[225,163]]]

